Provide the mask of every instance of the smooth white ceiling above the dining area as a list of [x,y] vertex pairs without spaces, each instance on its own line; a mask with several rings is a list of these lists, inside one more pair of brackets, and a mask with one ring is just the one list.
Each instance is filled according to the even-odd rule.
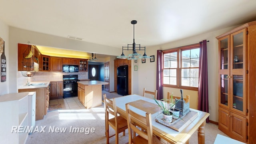
[[256,0],[0,0],[6,24],[122,48],[153,46],[256,20]]

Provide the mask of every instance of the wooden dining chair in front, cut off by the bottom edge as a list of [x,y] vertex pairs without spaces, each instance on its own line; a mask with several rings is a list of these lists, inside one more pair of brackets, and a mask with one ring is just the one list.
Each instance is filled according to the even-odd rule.
[[[146,116],[141,116],[130,110],[126,105],[126,119],[129,132],[129,144],[161,144],[160,140],[153,135],[151,114],[146,112]],[[141,126],[142,128],[139,128]],[[146,131],[142,131],[145,129]],[[134,132],[137,134],[134,135]]]

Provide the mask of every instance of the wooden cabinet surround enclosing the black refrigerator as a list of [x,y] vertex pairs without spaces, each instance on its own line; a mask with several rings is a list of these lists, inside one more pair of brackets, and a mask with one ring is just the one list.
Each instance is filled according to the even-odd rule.
[[116,59],[114,60],[114,90],[117,92],[117,68],[128,65],[128,94],[132,94],[132,60]]

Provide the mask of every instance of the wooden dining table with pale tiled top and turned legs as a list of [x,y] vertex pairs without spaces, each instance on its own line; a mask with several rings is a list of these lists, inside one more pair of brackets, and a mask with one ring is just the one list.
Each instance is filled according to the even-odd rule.
[[130,104],[131,110],[142,116],[145,116],[146,112],[151,113],[153,134],[158,136],[163,143],[186,144],[188,143],[190,136],[192,136],[196,130],[198,130],[198,144],[205,143],[204,126],[206,124],[206,118],[208,118],[210,115],[207,112],[202,112],[200,110],[190,108],[190,111],[198,112],[197,116],[193,118],[189,124],[184,126],[182,130],[177,131],[168,126],[165,126],[164,124],[156,122],[155,119],[161,114],[162,111],[158,105],[156,105],[154,99],[132,94],[117,97],[115,100],[117,112],[123,118],[126,118],[126,103]]

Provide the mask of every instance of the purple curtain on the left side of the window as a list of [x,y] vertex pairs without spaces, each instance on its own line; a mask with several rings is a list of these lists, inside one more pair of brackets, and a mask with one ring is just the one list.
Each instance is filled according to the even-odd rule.
[[156,90],[157,99],[161,100],[163,98],[163,79],[162,79],[162,50],[157,50],[157,60],[156,60]]

